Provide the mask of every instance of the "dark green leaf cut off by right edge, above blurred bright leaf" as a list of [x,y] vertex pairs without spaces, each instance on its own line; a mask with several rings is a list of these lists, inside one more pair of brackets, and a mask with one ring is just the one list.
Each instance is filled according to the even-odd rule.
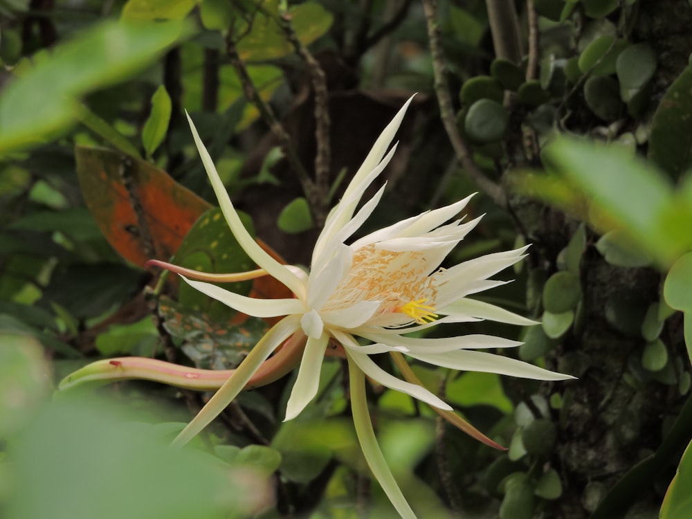
[[692,167],[692,65],[666,90],[651,121],[648,157],[677,178]]

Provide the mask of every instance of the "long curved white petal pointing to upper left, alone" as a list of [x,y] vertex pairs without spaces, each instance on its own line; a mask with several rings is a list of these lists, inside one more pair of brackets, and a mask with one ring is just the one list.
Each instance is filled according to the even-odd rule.
[[209,156],[206,147],[204,147],[201,138],[199,138],[199,134],[197,134],[197,128],[194,127],[190,114],[185,111],[185,115],[188,116],[188,122],[190,123],[190,129],[192,130],[194,144],[197,145],[197,151],[202,159],[204,169],[209,176],[212,188],[214,188],[214,192],[219,200],[219,206],[221,207],[221,211],[224,212],[224,217],[226,217],[226,221],[228,222],[231,232],[233,232],[233,236],[235,236],[235,239],[238,240],[238,243],[240,246],[242,246],[243,250],[258,266],[264,268],[269,275],[275,277],[277,280],[289,287],[289,289],[291,289],[295,295],[301,297],[304,295],[304,284],[302,284],[298,277],[295,277],[295,275],[289,269],[262,250],[262,247],[255,242],[255,239],[253,239],[243,225],[242,221],[240,221],[240,218],[233,207],[233,203],[230,201],[226,187],[224,186],[224,183],[221,182],[221,178],[217,173],[214,162]]

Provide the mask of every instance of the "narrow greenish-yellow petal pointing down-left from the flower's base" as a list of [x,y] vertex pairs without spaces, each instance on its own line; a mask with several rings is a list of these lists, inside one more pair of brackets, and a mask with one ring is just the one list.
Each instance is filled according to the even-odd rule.
[[194,438],[203,428],[208,426],[221,411],[226,409],[238,393],[243,390],[253,374],[271,355],[278,345],[298,331],[298,316],[288,316],[277,322],[264,334],[250,353],[237,367],[233,375],[228,377],[224,385],[215,392],[214,396],[197,413],[190,423],[173,440],[172,447],[182,447]]

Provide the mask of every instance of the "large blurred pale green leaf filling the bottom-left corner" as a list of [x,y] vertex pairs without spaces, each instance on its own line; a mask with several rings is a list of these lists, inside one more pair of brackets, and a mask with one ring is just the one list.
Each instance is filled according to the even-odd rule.
[[3,516],[220,519],[252,516],[271,499],[257,473],[171,449],[156,426],[129,420],[104,401],[46,408],[12,444],[16,484]]

